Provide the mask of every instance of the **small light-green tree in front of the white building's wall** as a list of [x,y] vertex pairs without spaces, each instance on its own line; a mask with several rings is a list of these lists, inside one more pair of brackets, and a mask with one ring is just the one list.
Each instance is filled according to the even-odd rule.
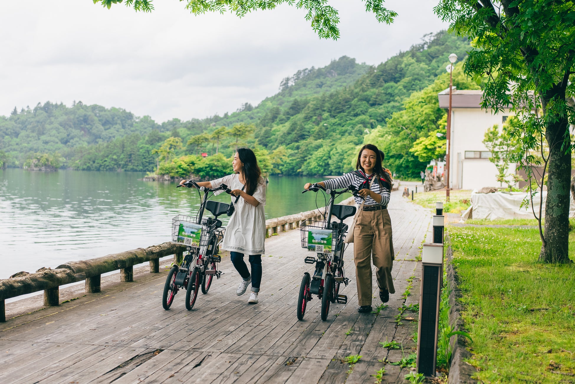
[[[515,172],[508,172],[509,166],[512,164],[511,154],[517,148],[517,139],[509,135],[511,130],[511,124],[513,121],[517,121],[515,116],[509,117],[505,124],[503,124],[503,129],[499,130],[499,125],[495,124],[491,128],[485,131],[485,139],[483,144],[491,152],[489,161],[495,165],[497,168],[497,181],[500,186],[503,183],[507,184],[509,191],[511,191],[512,186],[518,181],[518,176]],[[515,171],[515,170],[513,170]]]

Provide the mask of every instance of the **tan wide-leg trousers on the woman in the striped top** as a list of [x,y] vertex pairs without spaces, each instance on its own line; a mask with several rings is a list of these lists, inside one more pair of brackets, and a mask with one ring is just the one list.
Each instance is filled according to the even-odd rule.
[[392,222],[387,209],[357,213],[354,228],[355,278],[358,286],[359,305],[371,305],[371,256],[379,289],[393,287]]

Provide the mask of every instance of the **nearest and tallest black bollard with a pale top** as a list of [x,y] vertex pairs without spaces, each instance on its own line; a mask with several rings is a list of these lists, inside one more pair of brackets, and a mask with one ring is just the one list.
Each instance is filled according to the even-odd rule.
[[443,244],[424,243],[417,329],[417,373],[435,376],[439,298],[443,277]]

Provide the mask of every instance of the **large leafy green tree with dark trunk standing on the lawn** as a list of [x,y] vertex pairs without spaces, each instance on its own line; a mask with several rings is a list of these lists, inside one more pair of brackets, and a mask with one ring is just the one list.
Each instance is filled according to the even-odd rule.
[[[483,107],[511,110],[524,122],[512,130],[527,172],[530,151],[549,145],[545,231],[539,260],[569,263],[569,185],[575,110],[575,5],[554,0],[443,0],[435,8],[452,30],[474,41],[465,72],[486,81]],[[541,140],[538,140],[541,138]]]

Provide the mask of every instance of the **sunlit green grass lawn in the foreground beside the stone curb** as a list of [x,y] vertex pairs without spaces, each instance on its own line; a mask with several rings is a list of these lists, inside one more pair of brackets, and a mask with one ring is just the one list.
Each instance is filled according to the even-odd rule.
[[[575,266],[536,262],[537,229],[447,226],[469,361],[485,383],[575,382]],[[570,234],[570,258],[575,232]]]

